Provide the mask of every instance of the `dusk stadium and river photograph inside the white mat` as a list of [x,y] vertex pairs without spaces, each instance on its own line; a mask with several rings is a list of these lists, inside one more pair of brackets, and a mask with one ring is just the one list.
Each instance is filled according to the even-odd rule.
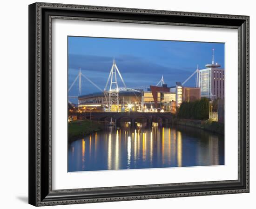
[[225,43],[67,36],[67,172],[224,166],[224,60]]

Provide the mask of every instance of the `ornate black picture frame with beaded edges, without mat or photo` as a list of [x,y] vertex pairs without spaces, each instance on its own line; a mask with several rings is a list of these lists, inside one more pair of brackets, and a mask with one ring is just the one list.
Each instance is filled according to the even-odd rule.
[[[52,189],[51,21],[113,21],[238,29],[238,179],[87,189]],[[249,16],[94,7],[29,5],[29,203],[35,206],[249,192]]]

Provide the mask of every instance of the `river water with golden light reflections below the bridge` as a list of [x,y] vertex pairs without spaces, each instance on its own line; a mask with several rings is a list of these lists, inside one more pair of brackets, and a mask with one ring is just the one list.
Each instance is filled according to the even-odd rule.
[[68,150],[68,171],[223,164],[223,136],[182,126],[109,127]]

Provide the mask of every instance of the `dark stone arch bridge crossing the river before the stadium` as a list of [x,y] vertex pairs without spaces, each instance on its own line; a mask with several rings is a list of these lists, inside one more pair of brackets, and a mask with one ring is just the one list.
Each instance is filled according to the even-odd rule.
[[145,123],[169,123],[174,115],[169,112],[73,112],[70,116],[77,116],[77,119],[91,119],[101,122],[109,122],[112,118],[113,122],[130,122],[135,124]]

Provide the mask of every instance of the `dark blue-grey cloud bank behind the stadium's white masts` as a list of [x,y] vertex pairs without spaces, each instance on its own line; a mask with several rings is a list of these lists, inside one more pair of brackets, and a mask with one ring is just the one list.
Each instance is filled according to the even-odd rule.
[[[68,60],[69,86],[74,81],[81,67],[82,74],[86,75],[101,89],[104,89],[113,63],[113,57],[70,54]],[[184,81],[194,71],[189,71],[187,70],[188,68],[166,67],[153,63],[150,60],[126,54],[115,57],[115,60],[125,84],[130,88],[142,85],[156,85],[162,75],[164,76],[165,83],[168,86],[172,86],[175,85],[176,81]],[[117,80],[119,86],[122,87],[121,79],[117,77]],[[71,92],[75,93],[75,89],[78,89],[78,85],[74,85],[74,90]],[[83,94],[95,91],[98,91],[98,89],[88,80],[82,78]]]

